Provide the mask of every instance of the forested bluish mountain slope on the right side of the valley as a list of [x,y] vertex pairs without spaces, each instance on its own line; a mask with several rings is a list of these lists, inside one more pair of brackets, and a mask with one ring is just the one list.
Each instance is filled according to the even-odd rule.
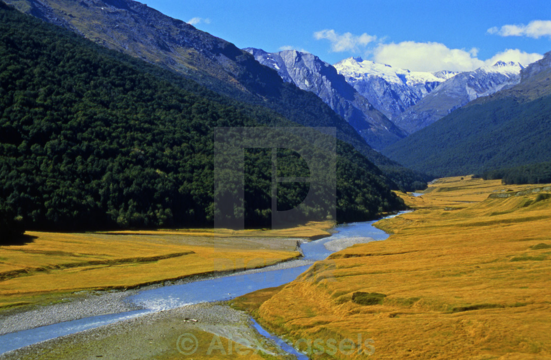
[[521,70],[518,85],[469,102],[384,153],[439,176],[549,161],[550,79],[548,52]]

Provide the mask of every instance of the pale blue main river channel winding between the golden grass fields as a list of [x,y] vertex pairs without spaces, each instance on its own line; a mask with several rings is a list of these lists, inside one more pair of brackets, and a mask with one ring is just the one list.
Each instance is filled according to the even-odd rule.
[[[394,215],[393,215],[394,216]],[[336,233],[331,236],[304,243],[301,245],[304,258],[302,260],[323,260],[332,252],[323,244],[344,237],[371,237],[376,241],[384,240],[388,234],[375,228],[376,221],[354,222],[339,225],[334,228]],[[293,263],[293,261],[290,261]],[[296,267],[262,271],[255,274],[242,274],[218,277],[182,285],[163,286],[144,290],[127,298],[127,301],[142,306],[143,310],[127,313],[100,315],[64,323],[41,326],[35,329],[12,332],[0,336],[0,354],[37,342],[54,339],[59,336],[74,334],[78,331],[96,328],[98,326],[116,323],[159,310],[173,309],[185,305],[202,302],[224,301],[262,288],[280,286],[296,279],[310,265],[296,261]]]

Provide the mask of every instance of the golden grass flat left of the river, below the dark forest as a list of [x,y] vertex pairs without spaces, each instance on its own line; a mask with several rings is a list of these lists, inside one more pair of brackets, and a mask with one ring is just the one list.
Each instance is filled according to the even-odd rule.
[[296,238],[327,236],[332,226],[318,222],[284,230],[28,231],[31,242],[0,246],[0,308],[51,303],[82,290],[260,268],[299,257]]

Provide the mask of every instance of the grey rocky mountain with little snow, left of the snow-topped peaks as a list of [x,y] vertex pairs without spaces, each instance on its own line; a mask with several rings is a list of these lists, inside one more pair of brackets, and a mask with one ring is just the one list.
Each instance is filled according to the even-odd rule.
[[347,83],[337,70],[317,56],[295,50],[250,52],[261,64],[277,70],[280,77],[298,88],[314,92],[356,129],[374,149],[382,149],[406,136],[383,113]]

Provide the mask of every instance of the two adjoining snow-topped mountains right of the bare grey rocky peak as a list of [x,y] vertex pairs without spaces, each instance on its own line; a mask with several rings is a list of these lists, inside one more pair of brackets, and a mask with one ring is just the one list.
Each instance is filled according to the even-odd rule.
[[412,134],[478,97],[515,85],[519,63],[498,61],[471,72],[413,72],[358,57],[334,65],[395,125]]

